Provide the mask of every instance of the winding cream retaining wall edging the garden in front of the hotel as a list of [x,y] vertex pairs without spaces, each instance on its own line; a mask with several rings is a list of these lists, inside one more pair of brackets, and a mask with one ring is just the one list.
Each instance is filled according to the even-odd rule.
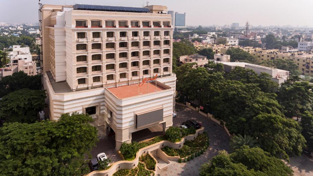
[[[196,130],[196,134],[190,134],[188,136],[183,137],[180,142],[173,143],[173,142],[164,140],[164,141],[160,141],[160,142],[157,142],[155,144],[149,145],[147,147],[141,148],[136,153],[136,158],[134,160],[132,160],[132,161],[123,160],[123,161],[115,162],[112,164],[112,166],[109,169],[102,170],[102,171],[93,171],[93,172],[87,174],[87,176],[112,176],[113,173],[115,173],[119,169],[132,169],[138,165],[139,157],[142,154],[157,150],[159,148],[163,148],[164,146],[180,149],[180,148],[182,148],[185,140],[193,140],[195,137],[197,137],[199,134],[201,134],[203,132],[204,132],[204,127]],[[176,158],[175,158],[175,160],[176,160]],[[177,158],[177,160],[178,160],[178,158]],[[157,167],[157,164],[156,164],[156,167]]]

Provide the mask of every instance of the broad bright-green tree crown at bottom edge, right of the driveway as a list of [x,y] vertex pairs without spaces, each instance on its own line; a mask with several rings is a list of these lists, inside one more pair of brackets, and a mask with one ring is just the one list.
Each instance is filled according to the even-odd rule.
[[231,154],[220,153],[201,166],[200,176],[292,176],[280,159],[261,148],[243,146]]

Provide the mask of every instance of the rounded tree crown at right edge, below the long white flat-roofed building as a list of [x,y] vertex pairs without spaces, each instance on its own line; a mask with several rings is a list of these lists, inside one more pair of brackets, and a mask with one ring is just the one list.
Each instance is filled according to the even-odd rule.
[[312,111],[313,85],[306,81],[282,83],[277,100],[284,107],[286,117],[299,117],[305,111]]

